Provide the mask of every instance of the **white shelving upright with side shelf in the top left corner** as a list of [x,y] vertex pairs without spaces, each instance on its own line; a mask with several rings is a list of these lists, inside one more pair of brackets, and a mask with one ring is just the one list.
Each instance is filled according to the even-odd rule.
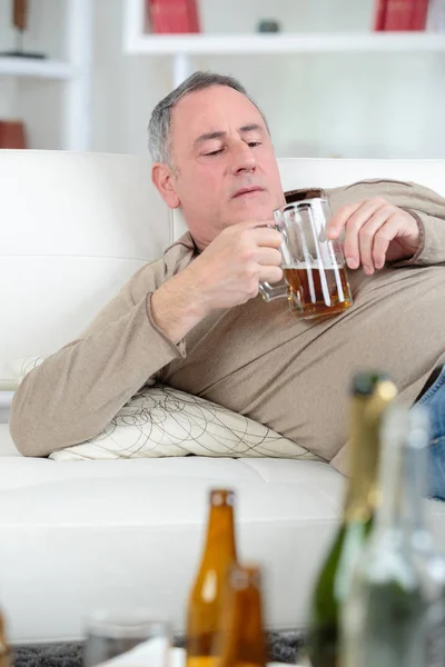
[[61,149],[89,150],[91,143],[91,0],[66,0],[66,60],[0,57],[0,77],[63,82]]

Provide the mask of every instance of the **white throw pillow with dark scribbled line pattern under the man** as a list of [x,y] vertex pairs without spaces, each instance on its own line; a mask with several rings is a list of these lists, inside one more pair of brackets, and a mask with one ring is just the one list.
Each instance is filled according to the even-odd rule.
[[[10,365],[20,382],[43,357]],[[56,461],[187,456],[320,460],[254,419],[164,385],[144,388],[107,428],[81,445],[50,455]]]

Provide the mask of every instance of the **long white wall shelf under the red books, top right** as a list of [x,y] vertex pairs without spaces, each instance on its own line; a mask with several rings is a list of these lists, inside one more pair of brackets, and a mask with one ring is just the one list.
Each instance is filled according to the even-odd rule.
[[346,53],[445,52],[445,34],[387,33],[280,33],[280,34],[134,34],[128,53],[167,56],[230,53]]

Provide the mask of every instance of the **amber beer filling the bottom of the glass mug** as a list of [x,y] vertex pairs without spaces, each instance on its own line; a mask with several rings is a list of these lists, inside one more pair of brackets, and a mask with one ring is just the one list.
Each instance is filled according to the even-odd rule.
[[345,267],[320,270],[299,263],[283,270],[290,308],[304,318],[338,315],[352,306]]

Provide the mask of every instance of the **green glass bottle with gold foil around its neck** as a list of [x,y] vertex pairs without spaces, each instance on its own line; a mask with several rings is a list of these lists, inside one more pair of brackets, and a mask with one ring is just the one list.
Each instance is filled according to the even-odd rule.
[[353,379],[350,472],[343,520],[316,581],[309,610],[307,650],[313,667],[339,664],[339,607],[370,529],[377,502],[380,424],[396,394],[394,382],[384,374],[360,372]]

